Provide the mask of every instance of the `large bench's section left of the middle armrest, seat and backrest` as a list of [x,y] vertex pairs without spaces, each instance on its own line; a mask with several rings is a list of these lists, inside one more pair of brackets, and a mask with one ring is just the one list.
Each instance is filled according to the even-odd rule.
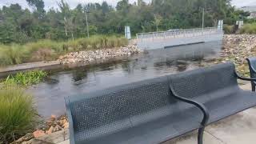
[[150,144],[198,129],[202,112],[170,93],[168,78],[154,78],[66,98],[70,143]]

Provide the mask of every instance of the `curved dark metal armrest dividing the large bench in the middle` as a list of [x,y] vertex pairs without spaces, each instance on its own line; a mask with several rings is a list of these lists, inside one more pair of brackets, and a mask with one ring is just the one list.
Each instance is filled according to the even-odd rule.
[[197,106],[203,113],[201,126],[203,126],[203,127],[206,126],[206,124],[209,120],[209,110],[207,110],[206,106],[204,106],[200,102],[196,102],[196,101],[191,100],[189,98],[183,98],[183,97],[178,96],[178,94],[176,94],[175,91],[173,90],[172,86],[170,86],[170,90],[171,90],[172,94],[174,94],[174,98],[177,98],[178,100],[180,100],[182,102],[187,102],[187,103],[190,103],[194,106]]

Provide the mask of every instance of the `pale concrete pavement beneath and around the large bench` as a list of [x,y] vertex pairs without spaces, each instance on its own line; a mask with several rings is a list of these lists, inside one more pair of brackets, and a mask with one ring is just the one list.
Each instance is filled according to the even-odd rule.
[[[250,90],[250,84],[241,86]],[[256,108],[235,114],[222,121],[207,126],[205,144],[254,144],[256,142]],[[66,140],[58,144],[69,144]],[[163,144],[197,144],[197,131],[175,138]]]

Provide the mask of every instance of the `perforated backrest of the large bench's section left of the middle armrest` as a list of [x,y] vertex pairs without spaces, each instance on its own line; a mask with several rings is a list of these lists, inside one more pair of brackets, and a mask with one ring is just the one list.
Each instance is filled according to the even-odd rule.
[[66,98],[75,141],[98,138],[164,117],[173,112],[171,105],[176,102],[170,94],[165,76]]

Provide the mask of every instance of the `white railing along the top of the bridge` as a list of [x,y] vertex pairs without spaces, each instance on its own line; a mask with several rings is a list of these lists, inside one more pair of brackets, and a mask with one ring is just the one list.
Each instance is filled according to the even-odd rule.
[[203,35],[211,34],[222,34],[223,31],[219,30],[218,27],[207,27],[198,29],[186,29],[186,30],[171,30],[171,31],[161,31],[161,32],[150,32],[150,33],[140,33],[136,34],[137,42],[154,41],[166,38],[188,38],[197,37]]

